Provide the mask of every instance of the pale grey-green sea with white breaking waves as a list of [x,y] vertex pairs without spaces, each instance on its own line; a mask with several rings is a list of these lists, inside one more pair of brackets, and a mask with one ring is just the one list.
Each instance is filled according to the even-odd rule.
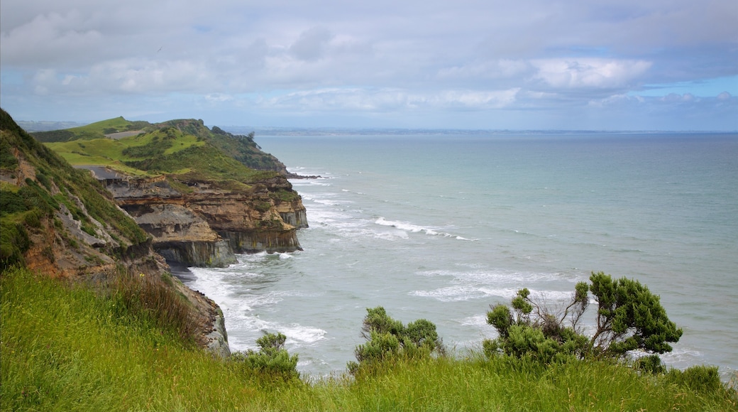
[[[307,208],[303,251],[190,268],[233,351],[286,334],[298,368],[340,373],[366,308],[435,323],[457,353],[494,303],[551,305],[604,271],[641,281],[684,329],[669,365],[738,369],[738,135],[258,137]],[[590,306],[593,307],[593,306]],[[584,316],[590,326],[593,309]]]

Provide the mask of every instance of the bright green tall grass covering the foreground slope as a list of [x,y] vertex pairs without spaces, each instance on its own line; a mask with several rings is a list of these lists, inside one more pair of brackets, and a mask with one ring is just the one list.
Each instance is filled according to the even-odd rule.
[[[387,361],[356,379],[272,380],[115,298],[0,276],[2,411],[734,411],[735,391],[614,363],[480,355]],[[357,328],[359,325],[357,325]]]

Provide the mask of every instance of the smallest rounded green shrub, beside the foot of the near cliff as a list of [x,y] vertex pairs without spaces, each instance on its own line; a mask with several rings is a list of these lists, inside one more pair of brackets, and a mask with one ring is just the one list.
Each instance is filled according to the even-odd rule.
[[284,349],[286,336],[281,333],[267,333],[256,340],[258,351],[249,349],[246,352],[236,352],[231,355],[233,362],[243,363],[252,371],[257,371],[265,377],[281,380],[293,380],[300,377],[297,371],[297,355],[292,355]]

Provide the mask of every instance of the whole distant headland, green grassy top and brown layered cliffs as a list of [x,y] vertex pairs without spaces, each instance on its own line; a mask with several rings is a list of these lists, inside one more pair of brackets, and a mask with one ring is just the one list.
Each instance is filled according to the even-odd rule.
[[234,253],[300,250],[305,208],[285,166],[253,134],[117,117],[34,136],[102,179],[170,261],[224,266]]

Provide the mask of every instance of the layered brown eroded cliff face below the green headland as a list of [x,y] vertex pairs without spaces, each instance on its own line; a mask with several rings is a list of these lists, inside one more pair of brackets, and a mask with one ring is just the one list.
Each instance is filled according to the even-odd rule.
[[165,177],[101,179],[120,207],[153,236],[154,249],[168,261],[225,267],[235,253],[301,250],[297,230],[307,227],[300,196],[283,176],[248,188],[210,182],[177,182]]

